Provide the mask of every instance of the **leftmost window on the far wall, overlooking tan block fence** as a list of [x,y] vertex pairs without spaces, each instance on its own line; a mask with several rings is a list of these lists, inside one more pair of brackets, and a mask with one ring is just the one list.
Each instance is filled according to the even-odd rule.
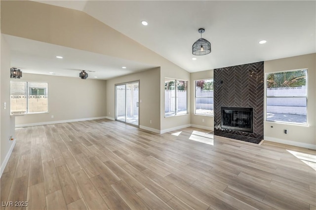
[[48,84],[11,81],[11,114],[48,112]]

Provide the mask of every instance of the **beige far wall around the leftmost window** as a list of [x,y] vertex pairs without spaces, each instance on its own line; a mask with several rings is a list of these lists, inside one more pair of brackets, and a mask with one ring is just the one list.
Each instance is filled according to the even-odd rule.
[[48,83],[48,113],[16,116],[16,127],[106,116],[105,80],[31,73],[12,80]]

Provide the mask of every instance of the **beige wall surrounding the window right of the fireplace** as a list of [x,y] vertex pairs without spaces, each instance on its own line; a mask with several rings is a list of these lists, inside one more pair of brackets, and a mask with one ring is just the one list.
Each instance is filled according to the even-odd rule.
[[264,62],[265,73],[298,69],[308,69],[308,126],[264,122],[264,139],[316,149],[316,53]]

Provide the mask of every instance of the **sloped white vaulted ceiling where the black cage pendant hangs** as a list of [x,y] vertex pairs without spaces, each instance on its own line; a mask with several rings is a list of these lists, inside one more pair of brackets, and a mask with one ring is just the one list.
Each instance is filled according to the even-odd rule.
[[[83,11],[190,72],[316,52],[316,1],[88,1]],[[212,52],[193,56],[200,27]]]

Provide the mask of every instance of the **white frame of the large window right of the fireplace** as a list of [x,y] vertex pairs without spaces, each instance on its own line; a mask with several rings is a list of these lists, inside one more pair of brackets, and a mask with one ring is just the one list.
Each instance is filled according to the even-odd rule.
[[[288,95],[288,96],[268,96],[268,74],[271,73],[281,73],[281,72],[289,72],[289,71],[299,71],[299,70],[306,70],[306,95],[305,96],[299,96],[299,95]],[[281,71],[273,71],[273,72],[266,72],[265,73],[265,121],[269,122],[269,123],[282,123],[282,124],[292,124],[292,125],[301,125],[301,126],[308,126],[308,68],[304,68],[304,69],[296,69],[296,70],[281,70]],[[267,107],[268,107],[268,99],[269,98],[291,98],[291,99],[295,99],[295,98],[306,98],[306,123],[296,123],[296,122],[286,122],[286,121],[275,121],[275,120],[268,120],[267,119]]]

